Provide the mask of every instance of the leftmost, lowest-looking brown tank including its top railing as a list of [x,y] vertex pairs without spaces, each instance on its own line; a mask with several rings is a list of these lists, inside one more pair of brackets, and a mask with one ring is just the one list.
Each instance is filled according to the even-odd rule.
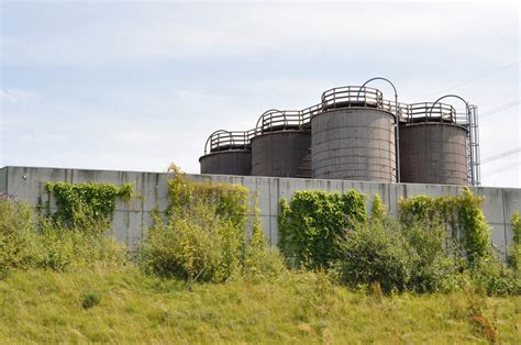
[[252,175],[252,131],[213,132],[204,145],[204,155],[199,158],[201,174]]

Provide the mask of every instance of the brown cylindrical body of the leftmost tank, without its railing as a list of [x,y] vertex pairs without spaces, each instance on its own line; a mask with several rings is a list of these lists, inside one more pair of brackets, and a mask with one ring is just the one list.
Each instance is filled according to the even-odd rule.
[[209,153],[199,158],[201,174],[250,176],[252,172],[252,152],[230,149]]

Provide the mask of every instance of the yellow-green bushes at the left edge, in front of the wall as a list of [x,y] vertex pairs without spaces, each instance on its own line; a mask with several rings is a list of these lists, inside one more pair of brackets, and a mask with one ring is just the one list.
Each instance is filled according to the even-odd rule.
[[74,227],[48,218],[33,221],[24,202],[0,199],[0,274],[31,267],[53,270],[122,267],[126,247],[107,236],[110,224],[85,205],[76,210]]

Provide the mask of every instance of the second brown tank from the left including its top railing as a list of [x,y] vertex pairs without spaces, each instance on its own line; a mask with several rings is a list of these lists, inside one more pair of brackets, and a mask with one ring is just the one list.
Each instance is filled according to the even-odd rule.
[[269,110],[252,138],[252,175],[311,177],[311,133],[300,111]]

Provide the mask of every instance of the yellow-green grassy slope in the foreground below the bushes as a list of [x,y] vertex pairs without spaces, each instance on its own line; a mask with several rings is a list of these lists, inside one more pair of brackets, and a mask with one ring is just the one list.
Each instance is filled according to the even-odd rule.
[[[91,294],[99,303],[86,309]],[[520,341],[520,297],[381,297],[307,272],[271,282],[196,285],[189,292],[181,281],[132,267],[33,269],[0,281],[0,343],[487,343],[470,302],[500,342]]]

